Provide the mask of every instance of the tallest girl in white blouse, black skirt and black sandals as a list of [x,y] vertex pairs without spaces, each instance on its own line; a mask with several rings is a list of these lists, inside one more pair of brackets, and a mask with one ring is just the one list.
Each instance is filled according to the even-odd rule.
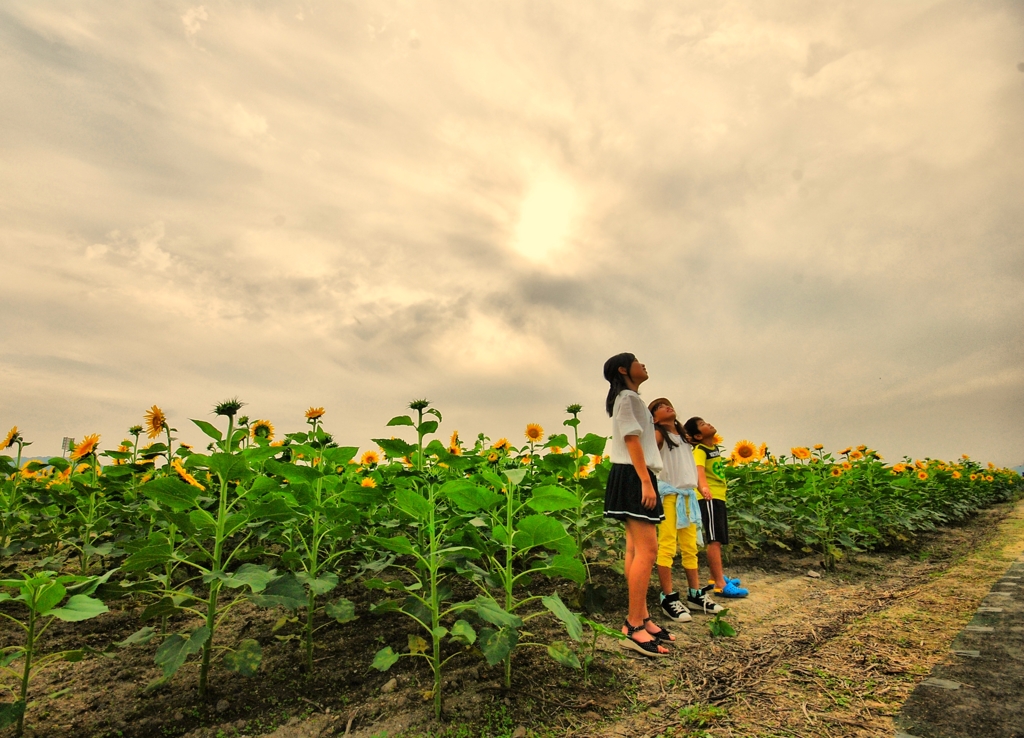
[[605,407],[611,417],[611,471],[604,495],[604,517],[626,524],[626,584],[630,608],[620,643],[644,656],[667,656],[660,644],[675,637],[658,627],[647,611],[650,572],[657,555],[654,524],[665,520],[657,496],[662,454],[654,440],[654,426],[637,388],[647,380],[647,367],[631,353],[604,362],[608,381]]

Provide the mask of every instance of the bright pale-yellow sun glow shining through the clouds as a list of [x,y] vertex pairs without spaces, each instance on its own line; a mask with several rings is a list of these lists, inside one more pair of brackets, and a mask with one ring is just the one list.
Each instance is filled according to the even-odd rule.
[[555,266],[568,256],[567,245],[578,219],[580,198],[564,177],[537,176],[519,206],[512,248],[532,264]]

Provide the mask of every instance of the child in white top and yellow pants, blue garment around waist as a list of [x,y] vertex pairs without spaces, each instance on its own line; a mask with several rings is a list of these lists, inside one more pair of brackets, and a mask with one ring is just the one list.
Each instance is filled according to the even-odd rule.
[[[689,443],[683,443],[683,426],[676,418],[672,402],[658,397],[647,407],[653,416],[654,435],[664,466],[657,480],[657,492],[665,508],[665,522],[657,526],[657,578],[662,582],[662,610],[676,622],[688,622],[692,618],[686,605],[705,614],[721,612],[725,608],[708,597],[708,590],[712,588],[701,589],[697,572],[700,508],[694,491],[697,468],[693,451]],[[685,603],[672,585],[672,561],[676,558],[677,546],[682,553],[688,584]]]

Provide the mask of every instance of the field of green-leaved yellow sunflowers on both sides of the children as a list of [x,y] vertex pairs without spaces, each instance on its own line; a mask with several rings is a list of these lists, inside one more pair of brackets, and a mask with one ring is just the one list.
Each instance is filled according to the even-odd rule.
[[[516,446],[458,431],[443,442],[441,413],[415,400],[369,449],[339,445],[323,407],[281,435],[242,407],[191,421],[203,449],[179,442],[156,405],[116,447],[87,435],[67,459],[23,463],[16,427],[2,440],[0,625],[19,635],[0,650],[0,730],[23,733],[40,669],[129,649],[160,669],[147,690],[189,680],[202,700],[226,672],[260,671],[270,646],[311,672],[346,623],[401,621],[408,639],[365,668],[418,661],[439,717],[453,659],[499,667],[508,688],[516,652],[541,649],[586,681],[597,636],[621,637],[588,617],[605,595],[595,571],[621,565],[623,540],[602,516],[607,439],[581,435],[580,405],[564,432],[529,424]],[[887,466],[863,446],[776,457],[741,441],[727,476],[735,547],[820,552],[828,566],[1021,494],[1009,470],[966,458]],[[137,613],[123,640],[48,645],[54,620],[112,607]],[[278,624],[240,637],[225,627],[238,608],[272,610]],[[537,640],[540,621],[557,636]]]

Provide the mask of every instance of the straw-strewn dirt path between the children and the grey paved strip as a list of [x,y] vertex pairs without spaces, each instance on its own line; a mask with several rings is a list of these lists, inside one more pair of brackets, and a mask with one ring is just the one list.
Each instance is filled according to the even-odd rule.
[[739,635],[712,640],[695,619],[677,628],[672,658],[625,657],[630,707],[567,734],[889,738],[914,685],[1021,552],[1024,503],[943,531],[914,557],[864,556],[839,575],[734,565],[751,589],[727,616]]

